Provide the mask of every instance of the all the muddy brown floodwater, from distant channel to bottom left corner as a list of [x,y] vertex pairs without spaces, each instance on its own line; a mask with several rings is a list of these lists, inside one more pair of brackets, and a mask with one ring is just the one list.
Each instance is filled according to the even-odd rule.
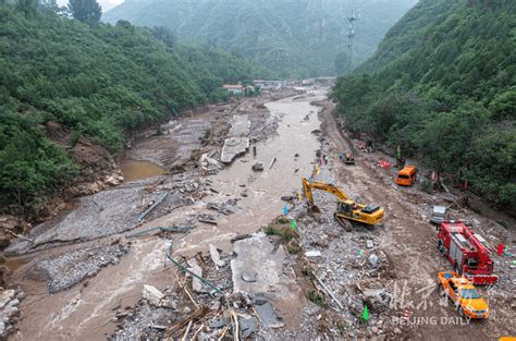
[[[218,174],[209,175],[218,192],[209,197],[209,202],[238,198],[238,211],[221,216],[217,226],[199,223],[188,235],[175,242],[176,255],[206,252],[209,244],[226,253],[231,251],[232,238],[256,232],[282,215],[286,204],[281,196],[298,193],[300,179],[309,176],[314,170],[319,142],[311,132],[320,127],[320,108],[310,102],[323,98],[321,92],[266,103],[271,120],[279,119],[277,134],[256,145],[256,156],[249,151]],[[273,158],[275,161],[269,168]],[[257,161],[263,165],[263,171],[251,170]],[[127,160],[122,168],[126,181],[163,173],[156,165],[140,161]],[[242,196],[243,192],[246,192],[245,196]],[[148,221],[140,229],[170,226],[179,217],[201,210],[206,210],[206,203],[197,202]],[[48,295],[44,283],[24,288],[27,297],[22,302],[23,319],[19,324],[20,332],[13,338],[105,340],[116,326],[113,312],[136,304],[142,297],[143,284],[163,289],[172,283],[175,272],[163,270],[168,245],[167,240],[158,238],[135,239],[128,254],[119,264],[103,268],[86,284],[79,283],[53,295]]]

